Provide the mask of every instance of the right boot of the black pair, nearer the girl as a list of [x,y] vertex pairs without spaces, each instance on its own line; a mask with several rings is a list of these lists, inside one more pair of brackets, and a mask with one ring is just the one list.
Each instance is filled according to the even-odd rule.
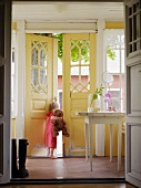
[[26,169],[27,145],[29,145],[28,139],[19,139],[19,177],[20,178],[24,178],[29,176],[29,173]]

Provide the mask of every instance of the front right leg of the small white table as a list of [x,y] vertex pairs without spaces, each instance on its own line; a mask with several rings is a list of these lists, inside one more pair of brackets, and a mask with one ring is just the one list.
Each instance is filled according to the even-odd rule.
[[121,168],[121,140],[122,140],[122,122],[118,127],[118,170]]

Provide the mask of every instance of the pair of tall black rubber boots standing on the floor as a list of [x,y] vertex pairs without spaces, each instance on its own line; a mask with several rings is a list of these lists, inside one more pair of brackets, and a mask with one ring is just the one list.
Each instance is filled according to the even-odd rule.
[[19,169],[17,165],[17,139],[12,139],[12,159],[11,159],[11,174],[12,178],[24,178],[29,176],[26,169],[26,158],[27,158],[27,145],[29,145],[27,139],[19,139]]

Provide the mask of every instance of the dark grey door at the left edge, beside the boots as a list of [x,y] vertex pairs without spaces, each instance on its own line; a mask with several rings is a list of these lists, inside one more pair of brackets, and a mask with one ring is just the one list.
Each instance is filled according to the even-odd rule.
[[10,181],[11,1],[0,1],[0,184]]

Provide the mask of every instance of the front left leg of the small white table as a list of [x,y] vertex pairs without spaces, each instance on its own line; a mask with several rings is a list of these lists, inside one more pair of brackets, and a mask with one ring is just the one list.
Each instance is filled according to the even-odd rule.
[[89,154],[90,154],[90,170],[92,171],[93,142],[92,142],[92,121],[91,121],[91,117],[89,117]]

